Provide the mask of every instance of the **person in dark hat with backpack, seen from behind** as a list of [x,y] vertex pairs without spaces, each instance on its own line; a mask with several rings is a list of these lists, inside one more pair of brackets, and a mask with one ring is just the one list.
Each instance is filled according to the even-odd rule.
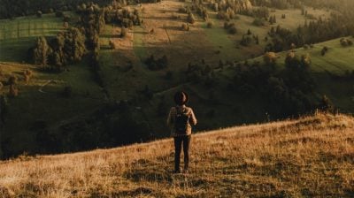
[[181,147],[184,153],[184,172],[189,170],[189,144],[192,133],[192,125],[196,125],[196,116],[190,107],[186,106],[189,102],[189,95],[185,92],[177,92],[174,95],[175,107],[172,107],[167,118],[167,126],[171,128],[174,140],[174,172],[179,173]]

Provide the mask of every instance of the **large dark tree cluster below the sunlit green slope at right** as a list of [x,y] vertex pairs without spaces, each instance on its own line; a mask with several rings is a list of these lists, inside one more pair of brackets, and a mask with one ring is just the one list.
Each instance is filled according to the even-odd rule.
[[266,98],[266,110],[275,118],[300,115],[318,108],[319,98],[312,99],[315,84],[309,72],[310,57],[297,57],[289,52],[286,69],[281,71],[274,66],[276,60],[276,54],[268,52],[263,65],[259,62],[236,65],[230,88],[240,95]]

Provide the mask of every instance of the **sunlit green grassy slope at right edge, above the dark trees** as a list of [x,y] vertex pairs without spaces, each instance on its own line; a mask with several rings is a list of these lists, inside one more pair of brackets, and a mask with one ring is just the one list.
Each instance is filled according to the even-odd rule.
[[[346,37],[353,40],[353,37]],[[327,47],[325,56],[321,55],[321,50]],[[277,65],[284,68],[285,57],[289,52],[278,53]],[[320,42],[313,45],[313,48],[299,48],[295,50],[297,56],[309,54],[312,60],[310,70],[314,78],[320,95],[327,95],[342,112],[354,111],[354,89],[352,87],[354,79],[345,78],[346,73],[354,71],[354,47],[342,47],[340,38],[327,42]],[[263,57],[250,59],[250,62],[263,61]],[[342,77],[342,78],[341,78]]]

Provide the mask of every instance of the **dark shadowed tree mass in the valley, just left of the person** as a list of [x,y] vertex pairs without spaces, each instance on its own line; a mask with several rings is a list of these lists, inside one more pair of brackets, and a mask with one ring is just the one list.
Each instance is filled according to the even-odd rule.
[[136,118],[133,108],[124,101],[107,103],[87,118],[59,126],[57,132],[50,131],[45,120],[35,121],[29,128],[37,146],[32,152],[55,154],[151,140],[150,126]]

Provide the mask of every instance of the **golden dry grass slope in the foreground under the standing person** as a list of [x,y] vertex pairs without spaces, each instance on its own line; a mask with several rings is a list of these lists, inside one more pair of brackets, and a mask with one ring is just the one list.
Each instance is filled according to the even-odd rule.
[[313,117],[193,136],[191,172],[171,139],[0,163],[0,197],[352,197],[354,119]]

